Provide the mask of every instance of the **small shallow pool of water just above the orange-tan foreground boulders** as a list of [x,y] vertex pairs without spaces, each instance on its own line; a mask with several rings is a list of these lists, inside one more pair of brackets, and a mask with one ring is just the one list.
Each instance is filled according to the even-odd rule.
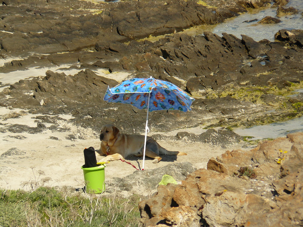
[[251,140],[285,137],[288,133],[303,131],[303,117],[294,118],[288,121],[275,122],[268,125],[238,128],[233,131],[240,136],[253,137]]

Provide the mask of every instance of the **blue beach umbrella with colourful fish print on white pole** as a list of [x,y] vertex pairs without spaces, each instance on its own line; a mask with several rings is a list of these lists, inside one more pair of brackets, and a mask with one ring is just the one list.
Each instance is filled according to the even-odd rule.
[[155,78],[133,78],[123,81],[112,88],[107,88],[104,96],[107,102],[130,104],[138,109],[147,109],[145,126],[145,143],[143,150],[143,165],[145,160],[146,137],[149,132],[148,112],[154,110],[191,110],[195,100],[183,90],[167,81]]

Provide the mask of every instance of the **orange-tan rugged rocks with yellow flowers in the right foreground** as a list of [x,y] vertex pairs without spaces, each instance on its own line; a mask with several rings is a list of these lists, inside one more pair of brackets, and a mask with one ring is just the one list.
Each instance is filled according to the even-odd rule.
[[[301,226],[303,133],[227,151],[139,203],[143,226]],[[161,201],[161,202],[159,202]]]

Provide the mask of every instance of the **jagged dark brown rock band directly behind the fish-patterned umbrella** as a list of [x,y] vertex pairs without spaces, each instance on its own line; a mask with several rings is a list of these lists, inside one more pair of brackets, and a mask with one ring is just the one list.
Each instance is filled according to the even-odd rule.
[[[103,101],[102,94],[107,86],[112,87],[118,82],[99,77],[92,71],[102,67],[110,72],[134,72],[129,78],[152,75],[195,96],[192,111],[169,112],[165,115],[165,122],[163,111],[152,112],[151,127],[160,131],[176,129],[180,124],[187,127],[198,124],[227,126],[280,120],[281,117],[296,116],[302,109],[300,101],[281,95],[294,85],[299,86],[301,81],[301,36],[301,30],[281,30],[275,36],[281,42],[256,42],[245,35],[238,39],[225,33],[219,37],[205,32],[204,36],[196,37],[175,34],[154,43],[98,43],[98,51],[91,55],[80,58],[80,55],[69,53],[79,61],[99,59],[93,64],[82,64],[85,70],[74,76],[47,72],[46,77],[21,80],[0,93],[0,104],[33,109],[35,113],[72,114],[75,123],[95,127],[96,131],[104,123],[142,129],[145,113],[132,106],[119,108],[121,104]],[[288,48],[284,48],[286,44]],[[49,55],[48,59],[60,62],[65,54]],[[248,63],[243,64],[243,61]],[[22,61],[16,60],[13,64],[24,67]],[[279,108],[282,104],[285,108]],[[273,108],[276,111],[270,111]],[[123,117],[111,117],[117,114]],[[94,117],[97,124],[92,126],[90,118],[83,116]]]

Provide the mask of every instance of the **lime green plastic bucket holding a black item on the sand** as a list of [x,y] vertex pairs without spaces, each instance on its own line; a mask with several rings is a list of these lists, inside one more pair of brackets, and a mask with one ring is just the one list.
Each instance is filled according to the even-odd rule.
[[[84,166],[84,165],[83,165]],[[84,182],[85,182],[85,190],[87,193],[100,194],[105,191],[105,165],[100,165],[91,168],[84,168]]]

